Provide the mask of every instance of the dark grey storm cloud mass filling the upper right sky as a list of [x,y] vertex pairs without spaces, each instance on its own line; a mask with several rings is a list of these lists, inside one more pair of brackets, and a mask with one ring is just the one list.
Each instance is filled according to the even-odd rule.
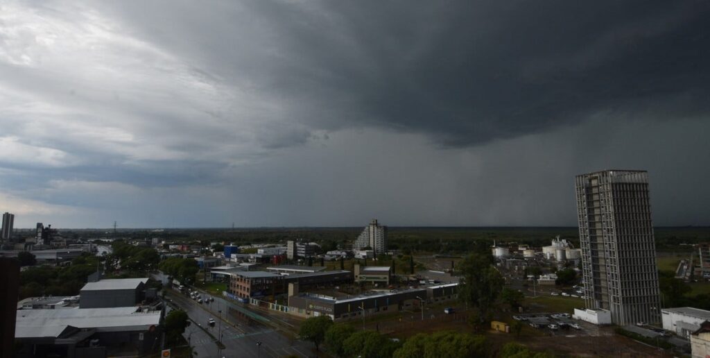
[[[245,72],[310,128],[386,126],[469,146],[598,112],[652,109],[662,119],[709,109],[706,1],[241,5],[138,21],[146,36],[165,38],[149,30],[189,16],[178,23],[192,32],[192,50],[212,54],[206,71]],[[215,10],[224,21],[206,21]],[[186,46],[176,41],[166,45]],[[286,138],[283,146],[302,143]]]

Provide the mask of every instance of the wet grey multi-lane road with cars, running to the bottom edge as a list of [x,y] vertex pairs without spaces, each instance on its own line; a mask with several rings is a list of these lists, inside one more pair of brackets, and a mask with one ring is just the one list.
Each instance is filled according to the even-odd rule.
[[[312,344],[300,340],[290,340],[287,336],[265,325],[257,313],[246,308],[214,298],[212,303],[197,303],[186,295],[168,291],[168,298],[173,300],[192,320],[200,326],[190,326],[191,344],[197,350],[197,357],[284,357],[289,354],[297,357],[312,357]],[[219,311],[222,311],[220,313]],[[209,318],[217,320],[214,327],[209,327]],[[220,327],[220,320],[222,325]],[[226,349],[219,352],[217,345],[200,327],[204,327],[213,337],[222,334]],[[186,332],[187,334],[190,334]],[[261,342],[261,346],[257,345]]]

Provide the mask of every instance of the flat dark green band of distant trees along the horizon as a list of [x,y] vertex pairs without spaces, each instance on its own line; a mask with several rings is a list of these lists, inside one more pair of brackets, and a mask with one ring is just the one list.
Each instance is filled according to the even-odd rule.
[[[319,242],[324,251],[342,248],[351,243],[362,231],[362,227],[295,227],[295,228],[249,228],[249,229],[165,229],[119,230],[116,237],[154,238],[180,243],[224,242],[236,245],[282,243],[287,240],[304,239]],[[112,233],[79,232],[82,237],[107,237]],[[575,247],[579,246],[577,227],[389,227],[388,241],[391,249],[431,252],[437,254],[459,254],[484,246],[493,241],[503,244],[518,242],[530,246],[549,245],[557,235],[567,239]],[[692,244],[710,242],[710,227],[657,227],[656,247],[659,250],[690,250]]]

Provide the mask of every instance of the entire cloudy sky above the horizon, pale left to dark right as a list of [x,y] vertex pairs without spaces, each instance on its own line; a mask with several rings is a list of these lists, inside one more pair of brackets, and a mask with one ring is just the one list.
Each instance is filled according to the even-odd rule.
[[710,224],[708,1],[2,1],[16,227]]

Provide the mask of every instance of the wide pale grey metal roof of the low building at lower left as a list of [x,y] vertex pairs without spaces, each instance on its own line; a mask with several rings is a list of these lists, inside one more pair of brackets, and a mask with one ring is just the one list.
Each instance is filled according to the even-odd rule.
[[97,332],[148,330],[160,323],[160,311],[143,313],[135,307],[18,310],[15,337],[57,337],[67,326]]

